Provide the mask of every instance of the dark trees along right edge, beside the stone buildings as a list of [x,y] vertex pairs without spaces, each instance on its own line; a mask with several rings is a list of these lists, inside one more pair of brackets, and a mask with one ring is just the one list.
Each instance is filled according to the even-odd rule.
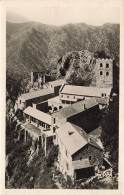
[[105,151],[110,153],[110,161],[114,165],[114,171],[118,171],[118,135],[119,135],[119,97],[105,109],[101,120],[102,142]]

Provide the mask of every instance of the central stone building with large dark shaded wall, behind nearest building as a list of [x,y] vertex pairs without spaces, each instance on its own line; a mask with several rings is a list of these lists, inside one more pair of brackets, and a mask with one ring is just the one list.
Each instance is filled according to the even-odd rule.
[[66,122],[78,125],[88,133],[98,127],[98,113],[99,105],[94,100],[83,100],[60,109],[52,113],[53,133]]

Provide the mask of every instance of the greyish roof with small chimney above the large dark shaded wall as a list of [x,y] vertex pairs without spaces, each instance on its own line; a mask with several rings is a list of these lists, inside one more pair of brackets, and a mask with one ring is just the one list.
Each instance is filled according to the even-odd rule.
[[97,103],[94,100],[82,100],[80,102],[76,102],[76,103],[68,106],[67,108],[63,108],[63,109],[59,110],[59,112],[65,118],[69,118],[70,116],[73,116],[75,114],[83,112],[83,110],[85,110],[84,106],[83,106],[84,104],[85,104],[85,109],[89,109],[89,108],[97,105]]

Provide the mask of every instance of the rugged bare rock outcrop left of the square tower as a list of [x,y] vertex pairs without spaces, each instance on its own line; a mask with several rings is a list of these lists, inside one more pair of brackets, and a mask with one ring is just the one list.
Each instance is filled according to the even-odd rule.
[[94,54],[87,50],[69,52],[59,61],[57,77],[65,77],[69,84],[91,85],[95,62]]

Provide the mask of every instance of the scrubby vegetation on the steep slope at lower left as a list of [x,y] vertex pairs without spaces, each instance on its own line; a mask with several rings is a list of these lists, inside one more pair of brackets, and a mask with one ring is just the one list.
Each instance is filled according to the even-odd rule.
[[54,162],[57,158],[57,147],[50,146],[48,155],[44,157],[41,149],[38,156],[28,164],[30,145],[18,142],[15,124],[7,121],[6,129],[6,188],[15,189],[54,189],[57,188],[52,179]]

